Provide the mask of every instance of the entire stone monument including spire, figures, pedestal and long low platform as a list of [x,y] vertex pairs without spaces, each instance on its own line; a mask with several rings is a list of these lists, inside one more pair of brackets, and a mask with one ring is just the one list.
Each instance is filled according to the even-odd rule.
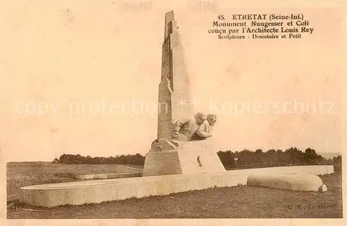
[[[21,188],[22,203],[40,207],[82,205],[247,184],[278,189],[326,191],[323,182],[314,175],[334,173],[331,165],[226,171],[211,142],[212,130],[215,123],[218,123],[217,116],[194,112],[191,105],[176,103],[190,101],[191,97],[183,49],[172,11],[165,15],[162,49],[158,101],[159,104],[166,103],[167,110],[158,112],[158,139],[153,141],[146,154],[142,177],[24,186]],[[287,175],[283,176],[283,173]],[[308,178],[309,174],[314,175]],[[88,176],[94,178],[95,175]],[[108,178],[108,175],[97,177]]]

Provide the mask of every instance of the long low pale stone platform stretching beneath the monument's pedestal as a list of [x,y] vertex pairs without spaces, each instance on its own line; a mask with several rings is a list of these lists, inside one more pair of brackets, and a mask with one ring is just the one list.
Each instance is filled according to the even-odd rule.
[[92,180],[22,187],[21,202],[40,207],[82,205],[150,195],[169,195],[183,191],[246,185],[251,173],[334,173],[333,166],[284,166],[251,168],[221,173],[162,175],[110,180]]

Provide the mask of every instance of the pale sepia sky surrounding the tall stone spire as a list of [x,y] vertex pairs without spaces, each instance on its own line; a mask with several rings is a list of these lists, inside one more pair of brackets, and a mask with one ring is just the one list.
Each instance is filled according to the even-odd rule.
[[[139,8],[135,1],[10,1],[1,7],[3,160],[145,155],[157,135],[153,107],[169,10],[196,112],[217,114],[217,151],[346,150],[341,10],[167,2]],[[218,40],[208,30],[221,13],[303,13],[314,32],[291,40]]]

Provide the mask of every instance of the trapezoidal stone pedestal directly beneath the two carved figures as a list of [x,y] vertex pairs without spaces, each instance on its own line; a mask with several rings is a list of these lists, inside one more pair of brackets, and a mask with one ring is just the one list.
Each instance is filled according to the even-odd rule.
[[143,176],[225,172],[217,150],[207,140],[180,142],[174,150],[149,152]]

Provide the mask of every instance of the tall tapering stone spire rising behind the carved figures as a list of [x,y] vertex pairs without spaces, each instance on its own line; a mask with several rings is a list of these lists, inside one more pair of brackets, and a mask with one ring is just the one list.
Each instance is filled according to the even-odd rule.
[[178,119],[192,116],[188,75],[174,11],[165,15],[162,76],[158,99],[158,139],[168,138]]

